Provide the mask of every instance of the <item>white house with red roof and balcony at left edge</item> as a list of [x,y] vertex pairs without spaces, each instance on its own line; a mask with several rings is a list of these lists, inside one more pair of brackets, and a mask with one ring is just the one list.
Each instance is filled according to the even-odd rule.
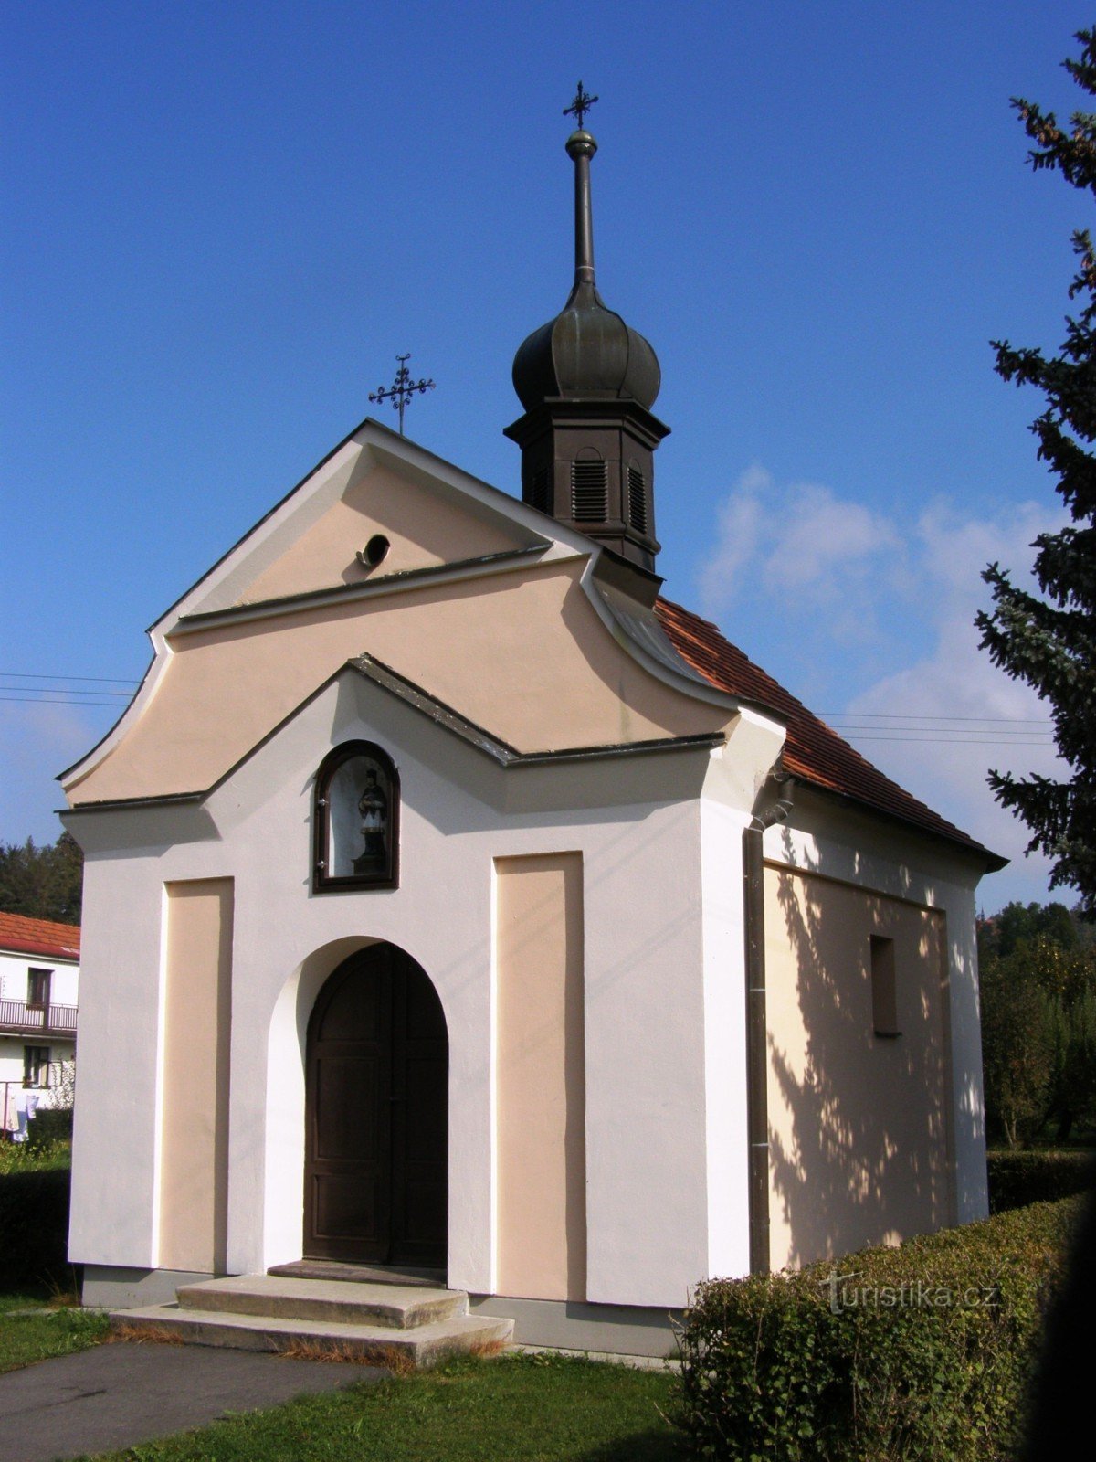
[[54,1099],[76,1057],[79,982],[79,924],[0,912],[0,1130],[18,1130],[20,1091]]

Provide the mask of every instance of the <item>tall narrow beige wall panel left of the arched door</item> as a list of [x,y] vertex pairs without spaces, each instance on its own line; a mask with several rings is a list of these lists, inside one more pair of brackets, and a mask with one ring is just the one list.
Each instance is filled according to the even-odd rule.
[[225,1270],[232,880],[165,885],[159,1265]]

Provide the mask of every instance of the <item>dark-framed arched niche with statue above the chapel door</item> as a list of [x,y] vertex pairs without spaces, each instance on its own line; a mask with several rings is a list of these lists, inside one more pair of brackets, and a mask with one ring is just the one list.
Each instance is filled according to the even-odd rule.
[[399,772],[373,741],[320,763],[313,800],[313,892],[399,886]]

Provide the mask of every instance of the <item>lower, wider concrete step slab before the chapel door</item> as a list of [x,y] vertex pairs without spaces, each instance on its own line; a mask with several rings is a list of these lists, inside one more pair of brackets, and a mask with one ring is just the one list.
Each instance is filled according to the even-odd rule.
[[399,1363],[399,1358],[415,1366],[434,1366],[452,1355],[492,1354],[513,1336],[513,1320],[471,1314],[399,1329],[387,1325],[340,1325],[184,1310],[171,1304],[114,1310],[110,1323],[123,1336],[161,1336],[238,1351],[292,1352],[294,1348],[307,1347],[313,1354],[327,1351],[339,1357],[371,1360],[378,1366]]

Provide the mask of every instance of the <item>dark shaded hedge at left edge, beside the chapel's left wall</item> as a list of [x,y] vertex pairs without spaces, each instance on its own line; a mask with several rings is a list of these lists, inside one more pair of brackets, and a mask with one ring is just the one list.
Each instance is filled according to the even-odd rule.
[[67,1167],[0,1173],[0,1288],[67,1285],[69,1183]]

